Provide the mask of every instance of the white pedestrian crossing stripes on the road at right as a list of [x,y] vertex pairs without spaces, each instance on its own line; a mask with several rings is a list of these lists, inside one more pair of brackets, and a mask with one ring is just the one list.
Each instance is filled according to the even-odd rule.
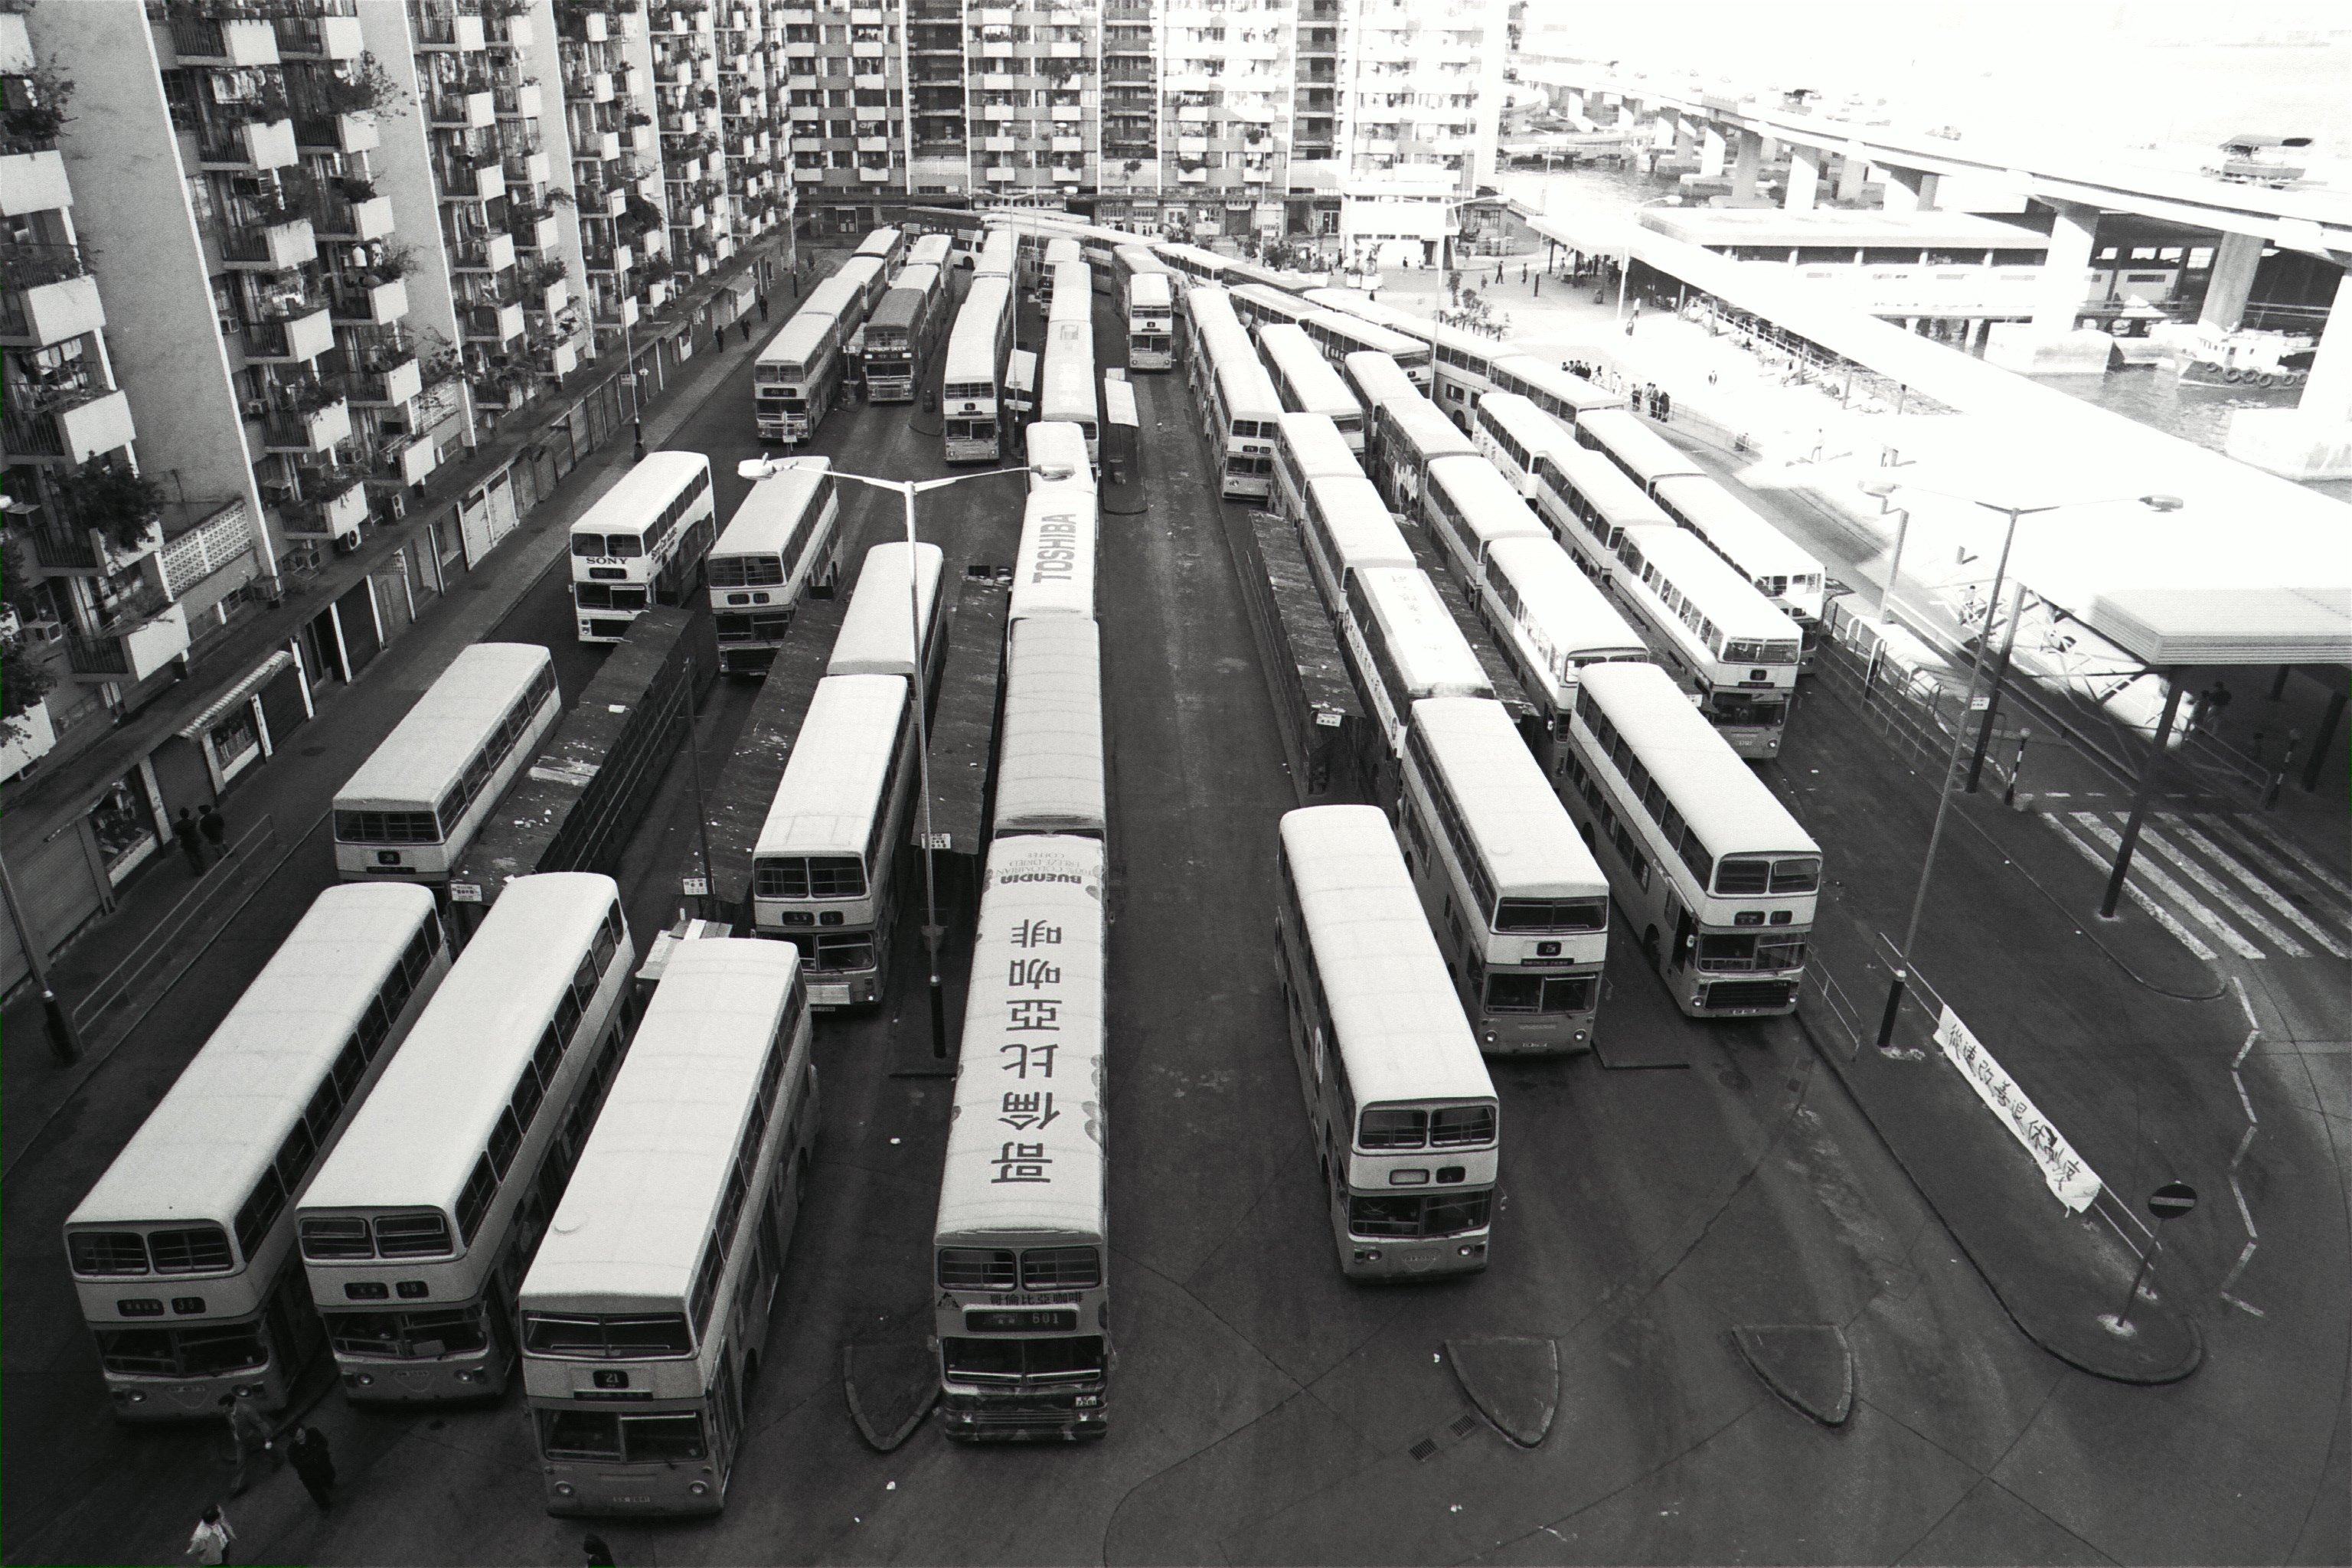
[[[2124,844],[2122,811],[2042,820],[2103,872]],[[2124,893],[2199,959],[2352,959],[2352,877],[2244,816],[2152,811]]]

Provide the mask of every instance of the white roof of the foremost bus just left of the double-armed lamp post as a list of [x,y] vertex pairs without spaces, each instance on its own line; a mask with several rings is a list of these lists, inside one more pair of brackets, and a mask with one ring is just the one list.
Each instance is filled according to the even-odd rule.
[[882,780],[898,750],[908,684],[901,675],[828,675],[816,682],[783,780],[753,856],[863,856]]

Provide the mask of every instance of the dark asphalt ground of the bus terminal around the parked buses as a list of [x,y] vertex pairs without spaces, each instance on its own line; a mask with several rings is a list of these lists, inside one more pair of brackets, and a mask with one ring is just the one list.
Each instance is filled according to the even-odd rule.
[[[927,1030],[920,966],[898,964],[884,1006],[818,1027],[816,1175],[727,1512],[597,1526],[619,1561],[2352,1556],[2352,1248],[2331,1143],[2352,1107],[2340,1072],[2324,1072],[2343,1058],[2256,1058],[2265,1251],[2241,1293],[2265,1316],[2211,1295],[2216,1260],[2234,1248],[2185,1229],[2187,1267],[2178,1281],[2159,1274],[2159,1288],[2204,1326],[2206,1363],[2164,1389],[2098,1380],[2034,1347],[1813,1044],[1788,1020],[1684,1020],[1630,943],[1609,964],[1602,1027],[1679,1034],[1691,1067],[1496,1063],[1494,1267],[1411,1288],[1345,1284],[1270,957],[1270,844],[1291,804],[1275,717],[1183,381],[1141,376],[1138,393],[1150,508],[1105,517],[1098,588],[1115,879],[1110,1436],[971,1450],[922,1429],[891,1455],[856,1436],[842,1345],[920,1316],[946,1138],[946,1081],[891,1074]],[[746,371],[734,369],[673,444],[713,454],[727,508],[748,437]],[[906,407],[837,414],[816,449],[898,477],[943,473]],[[974,487],[988,498],[943,508],[936,527],[962,529],[974,550],[1016,527],[993,484],[1011,482]],[[896,527],[887,496],[844,503],[858,545]],[[489,635],[569,637],[560,588],[541,578]],[[569,675],[564,686],[576,691]],[[386,726],[409,696],[397,684],[372,696]],[[706,701],[706,778],[746,703],[724,684]],[[1832,703],[1809,701],[1766,769],[1825,839],[1832,877],[1856,867],[1846,896],[1872,919],[1907,898],[1896,844],[1924,795],[1846,764],[1877,745]],[[332,762],[358,755],[365,745]],[[677,903],[668,877],[689,835],[673,773],[623,867],[640,943]],[[1922,961],[1987,1041],[2063,1009],[2051,1027],[2114,1041],[2105,1088],[2084,1077],[2072,1093],[2161,1095],[2176,1112],[2157,1124],[2209,1126],[2211,1147],[2225,1124],[2244,1124],[2227,1074],[2239,1020],[2136,990],[2053,940],[2025,914],[2030,893],[2002,853],[1947,853],[1950,912]],[[127,1046],[136,1067],[94,1079],[7,1185],[7,1561],[181,1561],[226,1481],[216,1432],[122,1427],[106,1413],[56,1225],[266,957],[270,924],[292,924],[301,903],[256,900],[252,931],[230,933],[151,1020],[155,1037]],[[913,954],[906,907],[901,919],[898,952]],[[2143,1086],[2129,1056],[2138,1039],[2201,1056],[2211,1074]],[[2211,1161],[2211,1147],[2194,1157]],[[2112,1178],[2171,1168],[2169,1154],[2093,1152]],[[2223,1218],[2209,1187],[2183,1227],[2218,1234]],[[1726,1335],[1757,1324],[1844,1333],[1856,1368],[1844,1427],[1799,1415],[1740,1361]],[[1486,1427],[1444,1366],[1446,1340],[1494,1333],[1559,1347],[1559,1413],[1538,1448]],[[313,1420],[334,1441],[336,1507],[320,1516],[292,1476],[263,1479],[228,1509],[247,1561],[579,1561],[586,1526],[539,1507],[517,1394],[435,1413],[358,1410],[327,1394]]]

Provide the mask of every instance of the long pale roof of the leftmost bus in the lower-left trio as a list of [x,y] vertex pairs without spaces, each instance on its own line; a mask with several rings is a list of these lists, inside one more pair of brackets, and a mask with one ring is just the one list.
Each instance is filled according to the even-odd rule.
[[214,1220],[228,1229],[433,914],[414,884],[320,893],[66,1225]]

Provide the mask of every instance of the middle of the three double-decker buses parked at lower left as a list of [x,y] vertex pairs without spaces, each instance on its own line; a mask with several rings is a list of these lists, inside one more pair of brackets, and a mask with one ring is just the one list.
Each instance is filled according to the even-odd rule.
[[499,1394],[515,1291],[628,1048],[621,889],[515,877],[294,1211],[358,1401]]

